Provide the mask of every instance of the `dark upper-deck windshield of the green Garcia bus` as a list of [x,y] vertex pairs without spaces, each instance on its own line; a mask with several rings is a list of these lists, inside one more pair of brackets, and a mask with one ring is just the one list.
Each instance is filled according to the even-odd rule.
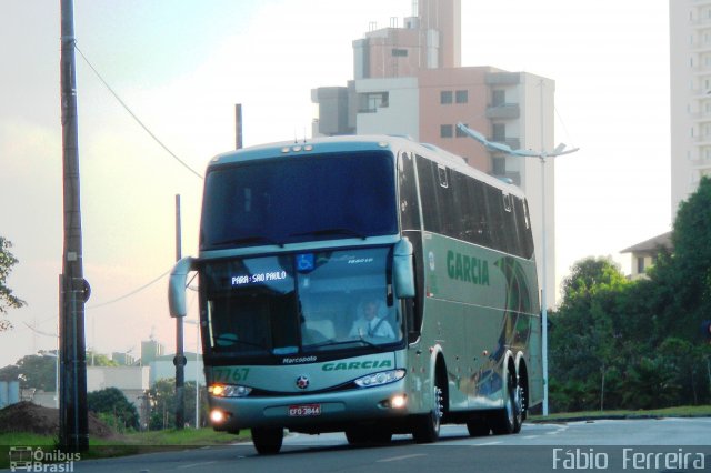
[[206,178],[201,250],[394,234],[387,151],[247,161]]

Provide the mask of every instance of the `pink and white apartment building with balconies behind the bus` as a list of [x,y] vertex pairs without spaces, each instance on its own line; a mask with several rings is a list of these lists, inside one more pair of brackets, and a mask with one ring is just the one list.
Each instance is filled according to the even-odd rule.
[[[461,66],[461,0],[420,0],[412,17],[371,24],[353,41],[353,80],[312,90],[312,134],[401,134],[463,157],[489,174],[510,179],[529,198],[539,258],[547,232],[547,301],[555,302],[554,162],[545,164],[542,211],[540,160],[485,150],[458,122],[513,149],[553,149],[555,83],[527,72]],[[539,268],[542,276],[542,270]]]

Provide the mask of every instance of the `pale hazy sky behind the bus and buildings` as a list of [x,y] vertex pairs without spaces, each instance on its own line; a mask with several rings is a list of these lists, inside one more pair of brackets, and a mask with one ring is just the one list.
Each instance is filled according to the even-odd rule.
[[[0,333],[0,366],[56,346],[62,256],[60,2],[3,0],[0,17],[0,235],[27,306]],[[462,0],[462,66],[555,81],[557,280],[671,229],[667,1]],[[352,41],[411,0],[74,0],[77,46],[121,100],[198,173],[234,148],[310,137],[311,89],[352,79]],[[202,180],[122,108],[77,54],[87,346],[174,349],[167,276],[198,252]],[[190,295],[194,313],[196,296]],[[186,350],[194,350],[193,325]]]

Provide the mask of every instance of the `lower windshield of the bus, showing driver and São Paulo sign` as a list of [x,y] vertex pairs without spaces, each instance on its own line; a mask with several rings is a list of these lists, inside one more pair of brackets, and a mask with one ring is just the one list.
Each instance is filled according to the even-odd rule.
[[204,263],[211,353],[287,356],[402,341],[390,246]]

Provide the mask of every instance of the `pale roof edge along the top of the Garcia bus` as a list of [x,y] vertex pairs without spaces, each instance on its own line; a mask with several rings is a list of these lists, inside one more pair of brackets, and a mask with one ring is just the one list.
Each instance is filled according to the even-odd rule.
[[423,155],[432,161],[453,169],[463,174],[472,175],[480,181],[484,181],[505,192],[520,197],[523,193],[514,184],[507,183],[498,178],[489,175],[467,164],[463,158],[447,150],[429,143],[418,143],[408,137],[401,135],[339,135],[312,138],[301,141],[282,141],[276,143],[260,144],[241,150],[229,151],[218,154],[209,167],[223,165],[236,162],[258,161],[262,159],[273,159],[279,157],[299,157],[313,153],[333,153],[339,151],[369,151],[390,150],[394,154],[399,151],[410,151]]

